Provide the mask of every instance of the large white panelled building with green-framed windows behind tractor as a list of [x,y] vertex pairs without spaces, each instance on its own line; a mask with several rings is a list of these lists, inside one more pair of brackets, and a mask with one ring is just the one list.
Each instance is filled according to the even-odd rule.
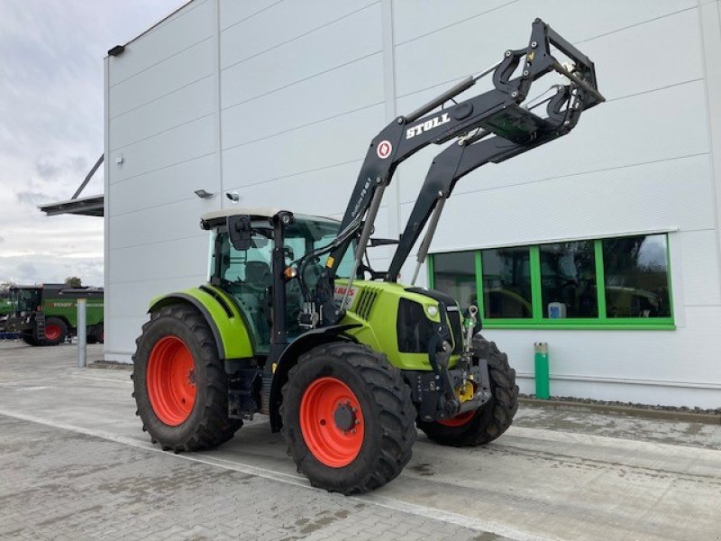
[[[720,12],[717,0],[189,2],[105,59],[106,360],[131,362],[151,298],[206,280],[199,217],[233,206],[226,194],[340,217],[386,124],[527,46],[541,17],[596,63],[607,103],[568,137],[461,179],[419,283],[479,305],[522,392],[545,342],[552,395],[721,406]],[[441,150],[398,168],[377,235],[403,230]]]

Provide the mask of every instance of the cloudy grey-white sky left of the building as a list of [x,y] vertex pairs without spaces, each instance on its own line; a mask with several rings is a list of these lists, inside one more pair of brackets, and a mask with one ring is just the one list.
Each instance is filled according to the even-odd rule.
[[[103,219],[48,217],[103,153],[103,59],[185,0],[0,0],[0,282],[103,285]],[[97,171],[80,197],[103,192]]]

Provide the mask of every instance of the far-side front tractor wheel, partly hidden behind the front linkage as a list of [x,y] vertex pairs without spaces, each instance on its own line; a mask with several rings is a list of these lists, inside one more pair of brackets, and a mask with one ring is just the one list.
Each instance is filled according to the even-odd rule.
[[508,364],[506,353],[483,336],[473,337],[476,356],[488,361],[491,399],[475,411],[461,413],[444,421],[418,420],[418,427],[437,444],[472,447],[488,444],[507,431],[518,410],[516,371]]

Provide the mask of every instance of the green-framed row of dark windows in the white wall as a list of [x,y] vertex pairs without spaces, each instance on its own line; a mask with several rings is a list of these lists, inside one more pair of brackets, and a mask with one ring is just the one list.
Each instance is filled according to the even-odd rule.
[[491,328],[674,328],[666,234],[436,253],[429,274]]

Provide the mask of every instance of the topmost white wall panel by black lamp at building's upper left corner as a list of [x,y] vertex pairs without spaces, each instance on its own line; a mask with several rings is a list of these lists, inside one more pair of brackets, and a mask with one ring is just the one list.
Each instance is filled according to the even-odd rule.
[[215,28],[214,2],[196,0],[153,27],[137,41],[128,43],[123,54],[114,58],[110,85],[146,69],[153,69],[163,60],[211,36]]

